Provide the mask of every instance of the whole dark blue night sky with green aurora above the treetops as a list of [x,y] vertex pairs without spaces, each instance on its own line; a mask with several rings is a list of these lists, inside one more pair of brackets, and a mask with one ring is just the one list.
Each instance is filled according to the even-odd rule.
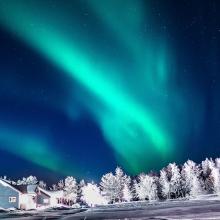
[[220,156],[219,12],[0,0],[0,175],[97,180]]

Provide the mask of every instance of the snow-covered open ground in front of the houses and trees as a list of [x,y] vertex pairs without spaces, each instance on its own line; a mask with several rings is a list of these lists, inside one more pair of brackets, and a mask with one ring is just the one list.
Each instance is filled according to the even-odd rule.
[[134,202],[110,205],[88,210],[47,210],[32,212],[1,213],[0,219],[65,219],[65,220],[147,220],[147,219],[219,219],[220,199],[215,196],[200,197],[196,200],[167,202]]

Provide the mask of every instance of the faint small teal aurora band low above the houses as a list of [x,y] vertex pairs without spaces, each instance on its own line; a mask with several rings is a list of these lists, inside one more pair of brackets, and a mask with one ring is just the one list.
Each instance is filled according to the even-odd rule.
[[[64,161],[58,152],[54,152],[51,144],[30,132],[0,129],[0,142],[3,150],[15,154],[41,167],[62,174],[69,174],[69,162]],[[63,166],[65,164],[65,167]],[[71,171],[73,171],[71,169]]]

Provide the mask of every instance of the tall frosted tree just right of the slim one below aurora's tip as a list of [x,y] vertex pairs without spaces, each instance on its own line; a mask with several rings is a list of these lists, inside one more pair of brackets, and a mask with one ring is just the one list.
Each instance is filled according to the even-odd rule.
[[167,166],[167,177],[170,184],[170,197],[178,198],[181,195],[181,175],[178,166],[170,163]]

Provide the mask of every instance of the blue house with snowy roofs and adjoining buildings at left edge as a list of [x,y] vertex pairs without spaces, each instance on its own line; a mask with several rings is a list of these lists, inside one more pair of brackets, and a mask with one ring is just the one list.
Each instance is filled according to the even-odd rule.
[[63,191],[48,191],[38,185],[12,185],[0,179],[0,207],[15,209],[37,209],[52,207],[63,201]]

